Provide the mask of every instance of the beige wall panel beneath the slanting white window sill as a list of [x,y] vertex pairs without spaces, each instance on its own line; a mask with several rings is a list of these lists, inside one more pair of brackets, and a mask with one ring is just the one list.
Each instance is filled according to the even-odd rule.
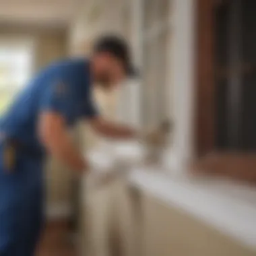
[[256,251],[183,210],[143,195],[144,256],[255,256]]

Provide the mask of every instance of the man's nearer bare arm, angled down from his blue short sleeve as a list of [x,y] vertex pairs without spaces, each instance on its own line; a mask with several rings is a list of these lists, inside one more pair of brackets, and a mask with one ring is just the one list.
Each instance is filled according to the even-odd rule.
[[51,112],[41,113],[38,121],[38,135],[46,150],[61,162],[73,170],[88,169],[84,158],[75,150],[61,115]]

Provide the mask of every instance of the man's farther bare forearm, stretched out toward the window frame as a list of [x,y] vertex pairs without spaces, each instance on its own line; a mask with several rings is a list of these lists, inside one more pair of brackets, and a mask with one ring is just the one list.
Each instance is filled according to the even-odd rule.
[[92,129],[104,137],[113,139],[135,139],[137,132],[125,125],[108,122],[100,117],[90,120]]

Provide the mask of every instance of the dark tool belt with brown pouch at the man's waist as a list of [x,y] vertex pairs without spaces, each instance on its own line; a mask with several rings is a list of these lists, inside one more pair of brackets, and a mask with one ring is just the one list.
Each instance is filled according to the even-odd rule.
[[3,135],[3,133],[0,133],[0,144],[2,148],[1,154],[3,154],[3,166],[7,172],[12,172],[15,169],[17,159],[20,156],[27,156],[35,160],[42,160],[44,157],[42,150],[29,146],[19,139]]

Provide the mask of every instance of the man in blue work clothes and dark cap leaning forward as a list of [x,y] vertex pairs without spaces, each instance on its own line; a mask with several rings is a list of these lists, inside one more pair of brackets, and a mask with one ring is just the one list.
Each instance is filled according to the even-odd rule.
[[136,132],[105,121],[92,100],[92,84],[113,89],[134,74],[129,49],[116,36],[96,42],[92,57],[54,63],[26,86],[0,122],[0,256],[33,255],[42,226],[42,164],[51,154],[77,172],[88,162],[67,127],[84,118],[101,135]]

